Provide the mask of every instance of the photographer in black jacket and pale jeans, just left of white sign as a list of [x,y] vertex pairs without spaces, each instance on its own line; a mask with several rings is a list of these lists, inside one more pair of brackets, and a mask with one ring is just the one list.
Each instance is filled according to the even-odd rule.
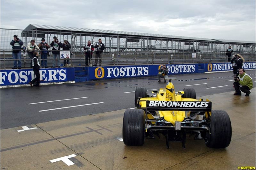
[[[58,67],[60,68],[60,48],[62,48],[62,43],[58,40],[58,37],[53,37],[53,41],[51,43],[52,47],[52,68],[56,66],[56,60],[58,61]],[[57,59],[56,59],[57,58]]]

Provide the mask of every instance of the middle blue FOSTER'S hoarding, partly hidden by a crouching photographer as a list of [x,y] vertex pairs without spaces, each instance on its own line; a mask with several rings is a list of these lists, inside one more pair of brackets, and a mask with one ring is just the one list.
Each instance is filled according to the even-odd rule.
[[[162,65],[89,67],[89,80],[156,76]],[[198,64],[167,64],[170,75],[198,72]]]

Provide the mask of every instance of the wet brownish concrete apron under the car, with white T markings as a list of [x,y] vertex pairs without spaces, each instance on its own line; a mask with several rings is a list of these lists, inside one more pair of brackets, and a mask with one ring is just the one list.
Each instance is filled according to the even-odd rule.
[[[186,148],[165,139],[139,147],[122,142],[125,109],[1,129],[1,169],[239,169],[255,167],[255,96],[201,96],[228,112],[232,139],[225,149],[188,137]],[[1,99],[2,100],[2,99]],[[1,108],[2,109],[2,108]],[[34,128],[34,129],[32,129]],[[19,130],[19,132],[18,132]],[[21,131],[20,131],[21,130]]]

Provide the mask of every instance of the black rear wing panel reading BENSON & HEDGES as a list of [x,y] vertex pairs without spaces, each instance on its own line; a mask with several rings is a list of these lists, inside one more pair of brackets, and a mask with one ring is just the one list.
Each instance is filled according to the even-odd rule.
[[[139,100],[143,101],[143,100]],[[143,109],[143,108],[142,108]],[[147,110],[211,112],[211,101],[159,101],[146,100]]]

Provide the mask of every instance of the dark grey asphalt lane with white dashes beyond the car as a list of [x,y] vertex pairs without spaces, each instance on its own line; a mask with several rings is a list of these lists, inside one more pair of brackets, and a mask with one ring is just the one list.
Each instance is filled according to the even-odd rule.
[[[255,81],[255,70],[247,70],[246,73]],[[169,75],[169,77],[177,78],[177,80],[172,80],[176,92],[186,87],[194,88],[198,98],[200,96],[223,92],[230,92],[230,96],[233,96],[233,81],[228,81],[233,79],[232,75],[233,72],[230,71],[207,74]],[[144,86],[147,89],[159,89],[164,88],[165,85],[166,83],[164,83],[163,79],[161,83],[158,83],[157,77],[147,77],[42,85],[41,87],[1,88],[1,129],[132,108],[134,107],[133,91],[135,91],[136,87]],[[185,87],[185,85],[193,86]],[[217,86],[223,87],[207,89]],[[255,87],[255,83],[253,83],[253,87]],[[150,92],[148,91],[149,94]],[[73,98],[82,99],[64,100]],[[29,103],[53,100],[64,101],[28,105]],[[92,103],[100,104],[39,112],[40,110]]]

